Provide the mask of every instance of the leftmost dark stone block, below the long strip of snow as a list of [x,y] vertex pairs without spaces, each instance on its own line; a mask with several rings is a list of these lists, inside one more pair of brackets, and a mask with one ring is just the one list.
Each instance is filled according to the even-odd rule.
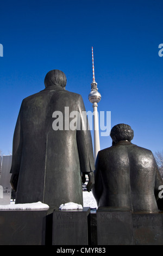
[[0,210],[0,245],[45,245],[47,210]]

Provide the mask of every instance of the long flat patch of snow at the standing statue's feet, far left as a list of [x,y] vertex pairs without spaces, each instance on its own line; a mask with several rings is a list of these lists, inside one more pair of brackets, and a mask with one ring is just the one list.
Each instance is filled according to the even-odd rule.
[[29,204],[6,204],[0,205],[0,210],[36,210],[36,209],[49,209],[47,204],[41,202]]

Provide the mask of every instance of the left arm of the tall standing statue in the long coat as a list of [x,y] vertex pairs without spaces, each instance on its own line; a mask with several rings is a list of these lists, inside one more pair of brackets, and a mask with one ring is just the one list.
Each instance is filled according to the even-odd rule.
[[11,179],[10,184],[12,188],[16,191],[17,182],[18,182],[18,174],[20,171],[21,164],[21,154],[22,154],[22,136],[21,136],[21,109],[18,114],[18,118],[16,121],[13,143],[12,143],[12,163],[10,173]]

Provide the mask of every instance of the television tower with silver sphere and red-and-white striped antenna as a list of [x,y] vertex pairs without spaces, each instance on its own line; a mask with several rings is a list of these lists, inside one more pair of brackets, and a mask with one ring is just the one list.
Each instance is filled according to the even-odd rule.
[[94,70],[94,62],[93,62],[93,47],[92,47],[92,71],[93,71],[93,81],[91,83],[91,92],[90,92],[88,98],[89,98],[89,101],[93,104],[94,159],[96,161],[98,151],[100,150],[97,103],[101,100],[101,94],[98,92],[97,83],[95,81],[95,70]]

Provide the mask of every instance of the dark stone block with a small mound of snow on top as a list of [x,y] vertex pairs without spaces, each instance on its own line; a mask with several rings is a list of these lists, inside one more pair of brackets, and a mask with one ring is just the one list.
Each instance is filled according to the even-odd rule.
[[55,210],[52,245],[88,245],[90,208]]

